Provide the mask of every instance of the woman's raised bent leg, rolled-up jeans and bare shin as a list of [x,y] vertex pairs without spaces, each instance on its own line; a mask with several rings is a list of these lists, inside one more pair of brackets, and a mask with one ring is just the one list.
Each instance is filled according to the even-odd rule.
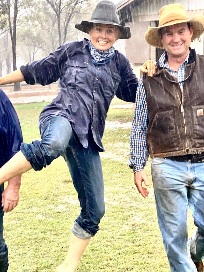
[[64,153],[73,137],[70,122],[61,116],[46,119],[41,129],[42,140],[21,144],[21,151],[0,168],[0,184],[30,169],[41,170]]

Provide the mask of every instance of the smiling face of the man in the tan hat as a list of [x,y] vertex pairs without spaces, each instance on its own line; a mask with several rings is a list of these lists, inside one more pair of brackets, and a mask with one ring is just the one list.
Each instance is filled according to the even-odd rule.
[[193,27],[188,28],[187,23],[174,24],[162,29],[162,43],[165,51],[171,57],[188,55],[193,36]]

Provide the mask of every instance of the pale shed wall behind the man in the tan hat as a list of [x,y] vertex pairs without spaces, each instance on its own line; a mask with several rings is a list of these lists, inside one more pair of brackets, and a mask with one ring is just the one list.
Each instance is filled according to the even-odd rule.
[[[158,12],[164,5],[181,3],[187,10],[189,18],[195,14],[202,14],[204,10],[204,0],[144,0],[140,5],[132,9],[132,23],[130,25],[132,37],[126,40],[126,56],[132,63],[144,63],[148,58],[155,59],[155,48],[149,46],[144,40],[144,32],[147,26],[159,20]],[[129,16],[127,12],[126,16]],[[196,49],[198,54],[203,55],[203,35],[200,41],[191,43],[191,47]],[[138,52],[139,55],[138,55]]]

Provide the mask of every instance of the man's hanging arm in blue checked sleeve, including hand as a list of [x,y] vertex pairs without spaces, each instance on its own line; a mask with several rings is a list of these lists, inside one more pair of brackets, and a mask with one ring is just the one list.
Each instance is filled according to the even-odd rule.
[[142,186],[143,181],[145,186],[149,186],[147,174],[144,170],[144,166],[149,158],[149,149],[146,141],[147,125],[146,94],[141,78],[135,100],[135,114],[130,137],[130,159],[128,165],[134,171],[135,185],[143,197],[149,194],[147,188]]

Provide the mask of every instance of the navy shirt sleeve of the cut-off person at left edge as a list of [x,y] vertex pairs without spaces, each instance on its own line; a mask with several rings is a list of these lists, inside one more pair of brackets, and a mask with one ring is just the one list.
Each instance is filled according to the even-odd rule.
[[7,95],[0,89],[0,167],[20,151],[22,142],[16,111]]

